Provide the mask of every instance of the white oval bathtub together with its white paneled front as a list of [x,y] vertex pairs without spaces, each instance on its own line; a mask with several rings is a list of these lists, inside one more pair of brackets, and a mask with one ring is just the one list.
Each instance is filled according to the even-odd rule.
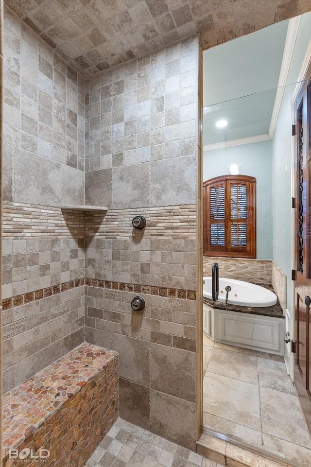
[[[204,277],[203,296],[212,299],[212,279]],[[219,279],[218,302],[225,302],[225,287],[229,285],[228,304],[241,307],[269,307],[275,305],[277,296],[264,287],[235,279]],[[230,346],[260,350],[277,355],[284,354],[285,319],[256,314],[247,308],[220,309],[217,302],[203,304],[203,332],[213,341]]]

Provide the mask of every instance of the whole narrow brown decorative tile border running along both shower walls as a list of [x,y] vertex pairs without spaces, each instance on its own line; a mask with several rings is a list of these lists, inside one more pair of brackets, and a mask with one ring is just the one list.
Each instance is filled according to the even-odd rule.
[[111,282],[109,280],[91,279],[89,277],[82,279],[69,280],[69,282],[63,282],[61,284],[53,285],[45,289],[35,290],[33,292],[27,292],[26,294],[16,295],[14,297],[4,298],[2,300],[3,311],[9,310],[13,307],[18,307],[26,303],[31,303],[41,298],[50,297],[51,295],[60,294],[67,290],[74,289],[86,285],[90,287],[98,287],[101,289],[113,289],[124,292],[135,292],[136,294],[149,294],[158,295],[160,297],[167,298],[181,298],[184,300],[196,300],[195,290],[185,289],[172,289],[166,287],[157,287],[153,285],[139,285],[139,284],[127,284],[124,282]]

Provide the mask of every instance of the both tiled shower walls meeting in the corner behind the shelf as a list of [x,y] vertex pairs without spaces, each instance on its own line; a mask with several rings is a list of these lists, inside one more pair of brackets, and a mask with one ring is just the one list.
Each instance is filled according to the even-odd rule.
[[198,40],[84,83],[5,15],[3,389],[85,337],[120,353],[121,415],[195,448]]

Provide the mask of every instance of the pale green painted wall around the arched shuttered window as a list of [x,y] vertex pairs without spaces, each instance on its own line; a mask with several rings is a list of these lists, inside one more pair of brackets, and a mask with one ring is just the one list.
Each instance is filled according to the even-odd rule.
[[203,181],[229,175],[232,162],[256,177],[257,258],[272,259],[272,140],[204,151]]

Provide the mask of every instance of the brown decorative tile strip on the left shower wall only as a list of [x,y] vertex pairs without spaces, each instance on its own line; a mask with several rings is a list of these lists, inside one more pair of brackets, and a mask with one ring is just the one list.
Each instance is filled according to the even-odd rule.
[[61,292],[66,292],[67,290],[74,289],[75,287],[80,287],[81,285],[84,285],[84,283],[84,278],[69,280],[69,282],[63,282],[62,284],[46,287],[45,289],[36,290],[34,292],[27,292],[26,294],[16,295],[15,297],[5,298],[2,300],[2,309],[3,311],[9,310],[12,308],[12,303],[14,307],[18,307],[24,303],[29,303],[34,300],[41,300],[42,298],[50,297],[51,295],[60,294]]

